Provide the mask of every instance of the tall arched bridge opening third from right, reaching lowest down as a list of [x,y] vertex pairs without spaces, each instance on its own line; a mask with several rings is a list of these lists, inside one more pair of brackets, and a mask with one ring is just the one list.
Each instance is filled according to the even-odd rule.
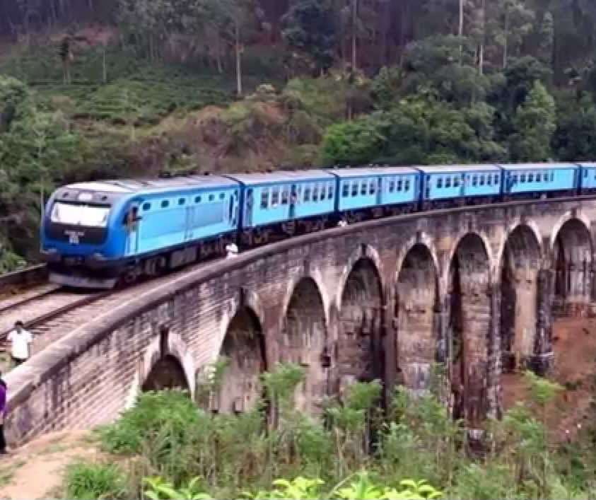
[[450,263],[448,338],[453,414],[472,426],[480,424],[488,410],[489,268],[481,238],[464,236]]

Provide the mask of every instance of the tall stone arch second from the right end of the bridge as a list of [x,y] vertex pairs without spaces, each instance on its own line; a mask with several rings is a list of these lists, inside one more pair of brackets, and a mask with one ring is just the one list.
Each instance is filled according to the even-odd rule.
[[542,250],[536,232],[518,224],[508,232],[499,264],[501,359],[512,371],[534,354]]

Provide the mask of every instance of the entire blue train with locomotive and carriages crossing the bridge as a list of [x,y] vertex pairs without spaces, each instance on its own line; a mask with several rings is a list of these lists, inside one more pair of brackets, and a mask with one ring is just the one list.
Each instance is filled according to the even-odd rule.
[[112,289],[344,223],[596,193],[596,163],[391,166],[78,182],[41,224],[52,283]]

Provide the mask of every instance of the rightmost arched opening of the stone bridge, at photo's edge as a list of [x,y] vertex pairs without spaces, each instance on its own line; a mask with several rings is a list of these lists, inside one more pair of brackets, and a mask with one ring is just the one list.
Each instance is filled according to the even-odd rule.
[[555,303],[559,315],[583,312],[590,302],[592,238],[582,221],[571,219],[561,226],[554,248]]

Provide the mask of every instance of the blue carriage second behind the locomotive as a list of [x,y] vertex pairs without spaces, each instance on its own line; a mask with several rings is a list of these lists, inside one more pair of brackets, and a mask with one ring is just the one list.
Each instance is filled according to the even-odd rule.
[[337,211],[350,222],[416,210],[419,172],[409,167],[333,168]]

